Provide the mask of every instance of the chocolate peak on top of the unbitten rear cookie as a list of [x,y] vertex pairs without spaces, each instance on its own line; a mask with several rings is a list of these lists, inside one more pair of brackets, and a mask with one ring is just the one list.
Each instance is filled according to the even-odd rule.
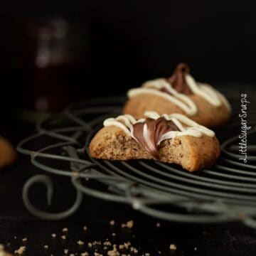
[[[179,63],[174,70],[173,75],[170,78],[167,78],[166,81],[171,84],[177,92],[183,93],[184,95],[191,95],[193,92],[188,86],[185,75],[189,73],[188,65],[185,63]],[[161,89],[162,92],[170,93],[166,88]]]

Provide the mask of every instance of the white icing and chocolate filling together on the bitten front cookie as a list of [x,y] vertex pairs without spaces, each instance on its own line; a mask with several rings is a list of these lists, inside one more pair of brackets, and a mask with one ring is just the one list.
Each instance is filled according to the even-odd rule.
[[205,134],[214,137],[215,133],[202,125],[193,122],[183,114],[163,114],[145,112],[144,119],[136,120],[129,114],[120,115],[117,118],[108,118],[104,126],[117,126],[135,139],[146,151],[159,159],[159,144],[165,139],[172,139],[184,135],[201,137]]

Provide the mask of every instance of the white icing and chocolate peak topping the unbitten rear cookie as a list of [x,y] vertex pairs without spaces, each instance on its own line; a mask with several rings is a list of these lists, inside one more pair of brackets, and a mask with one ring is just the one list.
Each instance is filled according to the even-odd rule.
[[189,74],[188,65],[184,63],[178,64],[170,78],[149,80],[144,82],[142,87],[128,91],[129,98],[140,94],[163,97],[191,116],[195,115],[198,111],[195,102],[189,97],[191,95],[203,97],[204,100],[214,107],[220,107],[224,104],[228,110],[231,110],[228,100],[210,85],[196,82]]

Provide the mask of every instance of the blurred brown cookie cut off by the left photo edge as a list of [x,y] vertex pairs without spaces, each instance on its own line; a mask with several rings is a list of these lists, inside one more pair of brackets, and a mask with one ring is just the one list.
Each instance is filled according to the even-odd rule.
[[0,169],[9,166],[16,160],[17,154],[10,142],[0,137]]

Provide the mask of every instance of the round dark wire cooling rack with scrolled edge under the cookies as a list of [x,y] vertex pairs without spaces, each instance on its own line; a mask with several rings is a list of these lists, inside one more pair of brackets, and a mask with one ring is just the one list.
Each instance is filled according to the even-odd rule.
[[[105,97],[78,103],[37,124],[38,133],[18,144],[18,151],[31,156],[31,163],[52,174],[68,176],[77,191],[75,203],[61,213],[39,210],[28,198],[33,183],[47,187],[48,203],[53,184],[36,175],[23,186],[23,202],[38,218],[59,220],[73,214],[84,193],[96,198],[128,203],[147,215],[186,223],[220,223],[240,220],[256,228],[255,113],[250,108],[247,163],[239,160],[240,94],[226,92],[233,105],[233,118],[218,129],[221,156],[211,169],[188,173],[173,164],[154,160],[105,161],[92,159],[87,145],[107,117],[122,112],[124,97]],[[40,146],[30,149],[31,145]],[[61,166],[57,168],[59,163]]]

